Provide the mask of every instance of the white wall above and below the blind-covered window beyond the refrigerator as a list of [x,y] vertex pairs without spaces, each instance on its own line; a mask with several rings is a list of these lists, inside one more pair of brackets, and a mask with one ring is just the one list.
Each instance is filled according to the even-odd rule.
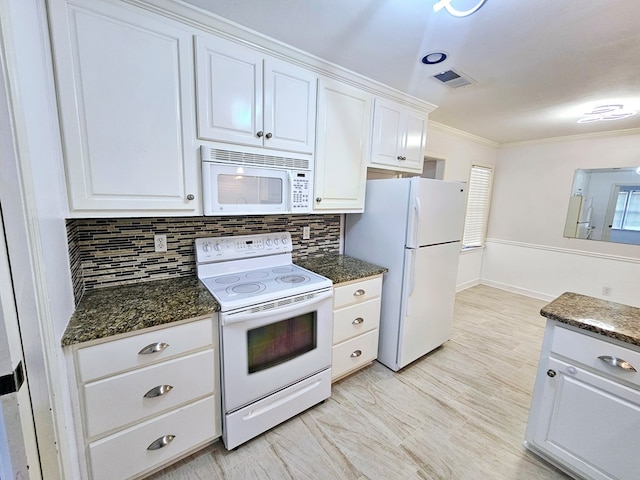
[[[429,122],[426,155],[445,159],[443,180],[468,182],[471,165],[496,165],[498,144]],[[480,283],[483,253],[483,249],[474,249],[460,254],[458,290]]]

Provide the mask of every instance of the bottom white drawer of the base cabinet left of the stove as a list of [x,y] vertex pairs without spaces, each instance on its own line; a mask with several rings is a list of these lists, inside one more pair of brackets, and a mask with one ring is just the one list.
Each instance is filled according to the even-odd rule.
[[[214,398],[208,397],[91,443],[89,456],[93,480],[131,478],[213,440],[215,416]],[[165,435],[175,437],[162,448],[147,449]]]

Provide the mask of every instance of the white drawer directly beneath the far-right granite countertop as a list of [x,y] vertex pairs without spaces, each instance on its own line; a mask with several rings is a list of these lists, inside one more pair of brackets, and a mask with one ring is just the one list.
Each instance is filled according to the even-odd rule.
[[[640,352],[609,343],[604,336],[599,340],[566,328],[556,327],[553,331],[551,351],[599,372],[640,386]],[[607,363],[615,359],[627,362],[638,371],[626,370],[621,366]]]

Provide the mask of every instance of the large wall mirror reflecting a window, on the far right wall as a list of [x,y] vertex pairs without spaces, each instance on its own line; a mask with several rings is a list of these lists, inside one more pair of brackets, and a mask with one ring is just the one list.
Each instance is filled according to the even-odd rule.
[[640,167],[578,169],[564,236],[640,245]]

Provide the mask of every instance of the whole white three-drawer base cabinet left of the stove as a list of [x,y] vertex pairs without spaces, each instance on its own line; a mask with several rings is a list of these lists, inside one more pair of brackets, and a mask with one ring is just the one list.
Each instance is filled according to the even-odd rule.
[[86,475],[138,478],[219,437],[217,349],[211,317],[74,346]]

